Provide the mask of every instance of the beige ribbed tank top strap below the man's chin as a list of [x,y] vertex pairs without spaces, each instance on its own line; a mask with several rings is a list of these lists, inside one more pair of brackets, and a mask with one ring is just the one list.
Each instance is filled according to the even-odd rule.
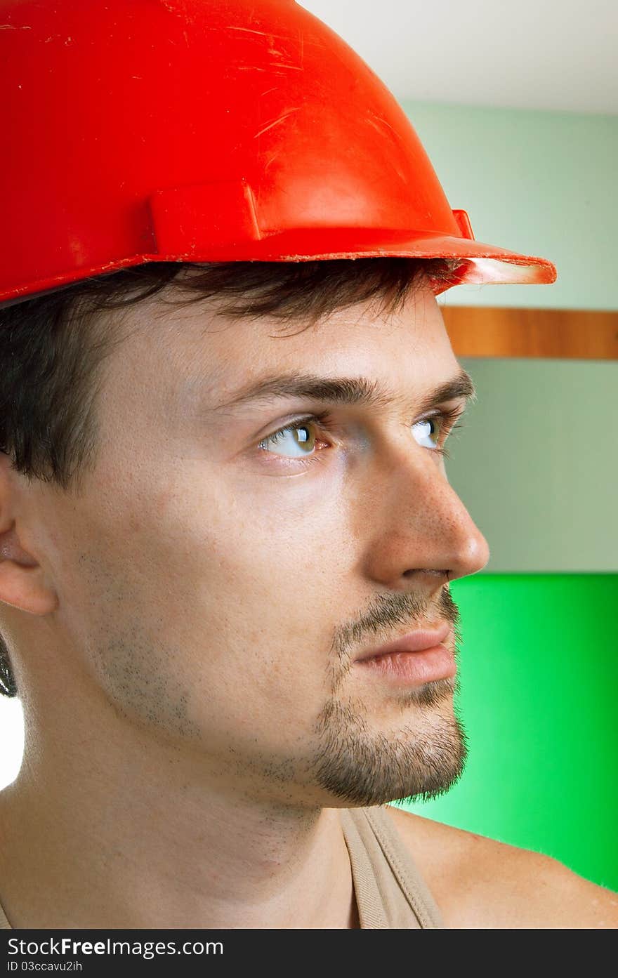
[[[445,927],[410,853],[383,808],[339,809],[361,928]],[[11,930],[0,906],[0,930]]]

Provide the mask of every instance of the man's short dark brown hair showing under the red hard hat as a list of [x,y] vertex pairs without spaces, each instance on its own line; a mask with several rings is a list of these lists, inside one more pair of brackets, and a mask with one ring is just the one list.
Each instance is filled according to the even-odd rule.
[[[183,302],[213,298],[217,314],[309,326],[335,309],[373,299],[380,300],[380,311],[394,312],[423,275],[431,284],[451,283],[458,264],[380,257],[151,262],[0,307],[0,451],[26,478],[78,490],[96,463],[102,364],[125,338],[121,317],[99,312],[173,286],[175,302],[181,295]],[[0,693],[18,695],[1,635]]]

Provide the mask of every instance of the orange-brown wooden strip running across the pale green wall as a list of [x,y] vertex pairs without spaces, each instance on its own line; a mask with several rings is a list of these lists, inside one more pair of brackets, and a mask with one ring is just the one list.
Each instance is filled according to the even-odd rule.
[[618,312],[440,306],[458,357],[618,360]]

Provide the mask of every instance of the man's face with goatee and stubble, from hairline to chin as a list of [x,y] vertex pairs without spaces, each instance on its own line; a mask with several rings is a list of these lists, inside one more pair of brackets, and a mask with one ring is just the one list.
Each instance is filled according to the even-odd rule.
[[[394,316],[364,304],[295,331],[206,303],[125,315],[96,471],[42,504],[67,684],[253,796],[335,807],[444,790],[465,755],[456,678],[355,661],[455,626],[447,582],[488,559],[419,411],[460,373],[430,289]],[[224,407],[291,374],[365,378],[393,400]],[[326,417],[289,427],[313,413]]]

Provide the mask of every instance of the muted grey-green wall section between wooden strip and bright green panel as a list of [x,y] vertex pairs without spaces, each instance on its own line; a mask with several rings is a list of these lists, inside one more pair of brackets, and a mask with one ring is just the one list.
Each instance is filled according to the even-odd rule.
[[460,362],[478,399],[446,466],[485,572],[618,571],[618,363]]

